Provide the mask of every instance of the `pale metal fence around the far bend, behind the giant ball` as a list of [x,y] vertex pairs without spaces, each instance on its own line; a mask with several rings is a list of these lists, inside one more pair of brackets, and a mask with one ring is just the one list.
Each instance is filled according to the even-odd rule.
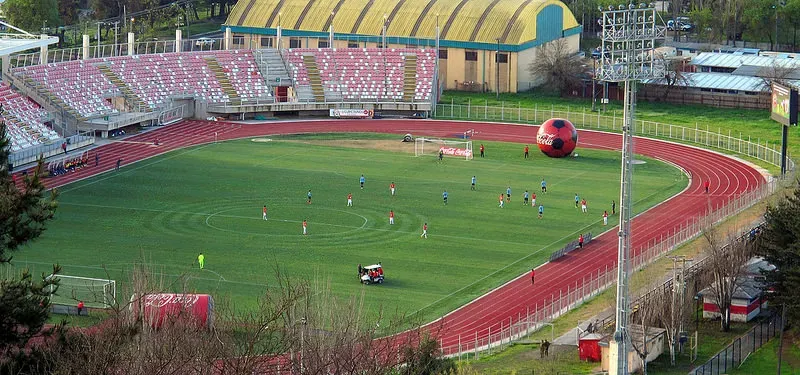
[[[569,120],[578,128],[613,132],[622,131],[623,121],[622,115],[618,115],[616,111],[610,115],[603,115],[599,112],[588,112],[582,107],[580,111],[571,111],[569,107],[564,110],[554,106],[549,108],[538,106],[521,108],[518,106],[489,107],[470,104],[437,104],[435,113],[436,118],[440,119],[505,121],[528,124],[540,124],[548,119],[558,117]],[[780,142],[769,142],[750,136],[745,138],[741,133],[738,135],[734,135],[731,132],[723,134],[721,129],[714,131],[708,125],[703,129],[700,125],[695,125],[692,128],[655,121],[637,120],[635,129],[637,136],[670,139],[687,144],[701,145],[761,160],[777,167],[781,165]],[[787,169],[790,177],[793,176],[795,163],[791,158],[788,160]]]

